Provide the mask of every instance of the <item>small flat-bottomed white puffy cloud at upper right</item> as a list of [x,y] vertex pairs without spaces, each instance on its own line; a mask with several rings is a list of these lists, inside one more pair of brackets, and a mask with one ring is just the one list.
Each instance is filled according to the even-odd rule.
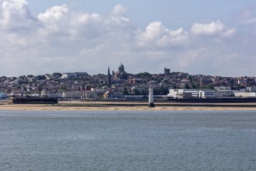
[[222,36],[230,37],[235,33],[235,29],[227,28],[224,23],[217,20],[212,23],[194,23],[191,27],[191,33],[201,36]]

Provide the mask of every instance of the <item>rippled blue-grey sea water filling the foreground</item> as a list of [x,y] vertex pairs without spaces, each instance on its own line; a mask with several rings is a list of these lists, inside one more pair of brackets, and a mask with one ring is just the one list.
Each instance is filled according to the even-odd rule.
[[0,111],[0,170],[256,170],[256,112]]

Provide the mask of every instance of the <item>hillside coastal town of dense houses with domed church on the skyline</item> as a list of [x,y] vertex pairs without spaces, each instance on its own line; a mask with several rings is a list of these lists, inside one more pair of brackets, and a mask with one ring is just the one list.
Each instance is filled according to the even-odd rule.
[[[19,77],[1,76],[0,99],[8,99],[10,96],[47,96],[69,100],[124,99],[149,94],[149,86],[153,87],[154,95],[174,98],[198,97],[199,91],[205,92],[205,96],[207,93],[212,96],[212,92],[218,92],[220,96],[256,96],[255,77],[190,75],[170,72],[170,68],[163,68],[163,73],[160,74],[131,74],[125,72],[124,65],[121,64],[117,71],[110,72],[108,67],[106,74],[98,75],[89,75],[87,72],[55,72]],[[182,93],[175,89],[182,89]]]

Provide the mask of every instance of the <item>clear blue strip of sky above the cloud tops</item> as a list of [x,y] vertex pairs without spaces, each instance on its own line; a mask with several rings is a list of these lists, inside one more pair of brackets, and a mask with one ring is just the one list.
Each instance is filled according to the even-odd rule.
[[212,21],[216,19],[226,19],[229,15],[239,11],[246,5],[254,4],[254,0],[250,1],[233,1],[233,0],[46,0],[36,1],[28,0],[30,10],[34,15],[44,12],[46,9],[54,5],[69,4],[72,9],[89,13],[99,13],[107,15],[111,9],[117,4],[124,5],[128,9],[127,16],[139,26],[147,26],[152,21],[161,21],[165,26],[190,26],[196,21]]

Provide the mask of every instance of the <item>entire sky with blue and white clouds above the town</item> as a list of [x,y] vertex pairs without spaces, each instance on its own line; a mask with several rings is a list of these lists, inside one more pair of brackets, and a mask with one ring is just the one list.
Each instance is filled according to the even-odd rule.
[[0,0],[0,76],[256,76],[254,0]]

